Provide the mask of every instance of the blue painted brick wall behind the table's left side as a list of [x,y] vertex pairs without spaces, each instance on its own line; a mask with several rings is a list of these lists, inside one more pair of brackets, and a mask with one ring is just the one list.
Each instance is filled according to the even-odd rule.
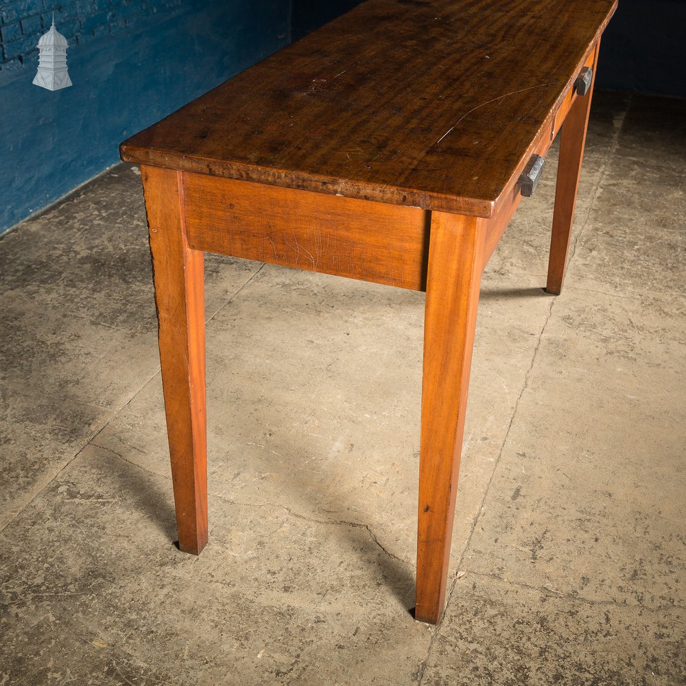
[[[32,84],[55,11],[71,88]],[[0,0],[0,233],[290,38],[290,0]]]

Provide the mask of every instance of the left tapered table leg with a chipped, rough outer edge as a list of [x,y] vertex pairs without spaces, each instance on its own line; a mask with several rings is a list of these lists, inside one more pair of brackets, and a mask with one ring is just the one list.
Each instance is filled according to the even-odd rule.
[[159,322],[178,545],[207,543],[204,252],[191,250],[180,172],[142,167]]

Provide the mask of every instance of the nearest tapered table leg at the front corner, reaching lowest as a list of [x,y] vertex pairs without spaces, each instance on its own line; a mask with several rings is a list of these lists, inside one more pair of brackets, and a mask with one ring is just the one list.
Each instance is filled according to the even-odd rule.
[[485,230],[484,220],[431,213],[415,608],[429,624],[445,603]]

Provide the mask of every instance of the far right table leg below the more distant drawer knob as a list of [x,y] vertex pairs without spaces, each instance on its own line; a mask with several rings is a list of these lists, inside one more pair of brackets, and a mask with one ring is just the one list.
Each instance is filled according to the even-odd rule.
[[555,189],[548,278],[545,286],[546,292],[553,295],[559,295],[562,291],[565,270],[567,269],[567,253],[569,252],[571,226],[574,221],[576,191],[579,185],[581,163],[584,158],[586,130],[589,125],[591,96],[595,82],[595,64],[598,64],[597,47],[593,64],[591,88],[586,95],[576,98],[560,130],[560,158]]

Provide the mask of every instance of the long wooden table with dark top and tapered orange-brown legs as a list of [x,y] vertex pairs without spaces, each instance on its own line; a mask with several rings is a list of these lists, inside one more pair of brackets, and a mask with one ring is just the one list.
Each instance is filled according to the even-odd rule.
[[481,274],[561,129],[560,292],[615,7],[368,0],[121,145],[145,187],[180,549],[207,542],[204,252],[425,290],[415,616],[438,622]]

